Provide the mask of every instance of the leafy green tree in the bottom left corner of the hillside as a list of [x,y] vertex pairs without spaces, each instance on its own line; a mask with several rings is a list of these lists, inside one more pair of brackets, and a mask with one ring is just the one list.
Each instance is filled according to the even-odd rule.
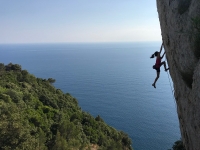
[[[30,126],[13,103],[0,102],[0,149],[32,149]],[[29,147],[30,146],[30,147]]]

